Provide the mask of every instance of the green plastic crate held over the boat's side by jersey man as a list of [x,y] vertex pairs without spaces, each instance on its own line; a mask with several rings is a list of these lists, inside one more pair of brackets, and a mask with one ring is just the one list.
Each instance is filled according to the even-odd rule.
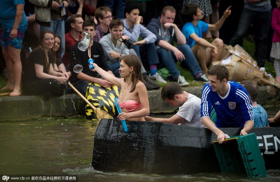
[[246,173],[248,177],[267,175],[256,134],[234,136],[226,141],[213,142],[223,172]]

